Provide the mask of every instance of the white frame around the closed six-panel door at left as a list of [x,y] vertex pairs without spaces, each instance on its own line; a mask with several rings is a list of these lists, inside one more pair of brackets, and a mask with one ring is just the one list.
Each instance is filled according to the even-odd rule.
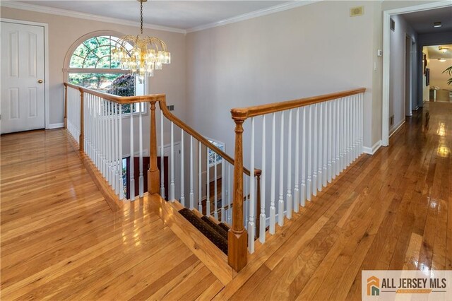
[[40,22],[31,22],[25,20],[1,18],[1,22],[15,23],[22,25],[42,26],[44,28],[44,127],[45,129],[54,129],[59,124],[50,124],[49,113],[49,24]]

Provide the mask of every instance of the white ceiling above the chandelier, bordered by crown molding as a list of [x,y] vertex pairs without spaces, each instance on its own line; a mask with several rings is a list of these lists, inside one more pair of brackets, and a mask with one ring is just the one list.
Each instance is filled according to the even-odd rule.
[[[138,22],[140,4],[136,0],[72,0],[72,1],[14,1],[19,4],[89,13]],[[170,28],[190,30],[247,13],[284,6],[293,1],[171,1],[149,0],[143,3],[143,22]],[[306,1],[309,2],[309,1]]]

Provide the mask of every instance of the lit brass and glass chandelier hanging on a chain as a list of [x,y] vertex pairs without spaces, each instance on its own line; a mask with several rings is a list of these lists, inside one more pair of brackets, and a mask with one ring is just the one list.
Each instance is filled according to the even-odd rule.
[[141,34],[126,35],[117,40],[112,56],[119,61],[121,69],[130,70],[133,75],[153,76],[154,70],[161,70],[163,64],[171,62],[171,54],[158,37],[143,35],[143,2],[148,0],[137,1],[140,2]]

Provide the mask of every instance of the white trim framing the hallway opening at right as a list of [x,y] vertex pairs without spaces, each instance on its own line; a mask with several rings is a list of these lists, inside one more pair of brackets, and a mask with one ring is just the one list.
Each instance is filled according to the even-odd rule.
[[383,11],[383,105],[381,114],[381,145],[389,145],[389,56],[390,45],[389,37],[391,30],[389,29],[389,19],[393,15],[400,13],[414,13],[416,11],[427,11],[434,8],[442,8],[452,6],[450,0],[438,1],[428,4],[420,4],[416,6],[408,6],[403,8],[390,9]]

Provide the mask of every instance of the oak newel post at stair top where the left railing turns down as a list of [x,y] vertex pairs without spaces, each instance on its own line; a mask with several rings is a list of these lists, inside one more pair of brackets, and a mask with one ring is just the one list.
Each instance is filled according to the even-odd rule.
[[155,129],[155,102],[150,101],[150,163],[148,170],[148,192],[159,193],[160,171],[157,168],[157,131]]

